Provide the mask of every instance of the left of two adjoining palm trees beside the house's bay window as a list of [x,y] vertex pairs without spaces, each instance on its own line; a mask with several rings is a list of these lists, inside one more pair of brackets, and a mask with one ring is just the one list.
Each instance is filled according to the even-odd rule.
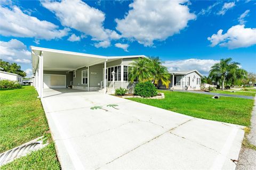
[[148,58],[139,58],[138,60],[132,62],[129,66],[130,81],[133,82],[137,79],[141,82],[149,81],[152,78],[149,63]]

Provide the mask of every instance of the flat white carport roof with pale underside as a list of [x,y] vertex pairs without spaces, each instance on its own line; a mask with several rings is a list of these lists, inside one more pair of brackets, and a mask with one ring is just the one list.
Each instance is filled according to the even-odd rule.
[[145,55],[133,56],[101,56],[85,53],[68,52],[64,50],[41,48],[31,46],[31,57],[33,70],[37,68],[38,56],[43,56],[44,70],[52,71],[73,71],[85,66],[115,61],[120,58],[146,57]]

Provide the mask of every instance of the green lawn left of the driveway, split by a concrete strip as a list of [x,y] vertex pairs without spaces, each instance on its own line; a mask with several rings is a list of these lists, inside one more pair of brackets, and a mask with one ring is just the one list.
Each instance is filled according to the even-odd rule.
[[[36,90],[31,86],[25,86],[22,89],[0,90],[0,152],[46,135],[47,131],[49,131],[41,101],[37,96]],[[43,153],[43,151],[49,153]],[[39,157],[37,158],[35,155]],[[23,162],[25,159],[27,161]],[[45,164],[53,167],[58,165],[60,167],[53,143],[43,150],[34,152],[32,155],[15,160],[15,166],[29,167],[31,164],[37,164],[39,159],[45,160]],[[19,163],[20,165],[18,166]],[[17,169],[12,165],[14,164],[5,166],[5,168]],[[45,166],[41,169],[44,169]]]

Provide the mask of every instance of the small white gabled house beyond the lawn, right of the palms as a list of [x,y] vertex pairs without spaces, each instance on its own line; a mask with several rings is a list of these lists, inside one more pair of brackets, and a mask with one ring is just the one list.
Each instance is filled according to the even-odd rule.
[[[203,75],[197,70],[170,72],[169,89],[174,90],[200,90],[201,78]],[[166,87],[159,81],[159,89],[166,89]]]

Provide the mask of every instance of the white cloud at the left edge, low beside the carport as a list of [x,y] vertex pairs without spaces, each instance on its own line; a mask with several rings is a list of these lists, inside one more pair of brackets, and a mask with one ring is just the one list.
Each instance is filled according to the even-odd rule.
[[31,63],[31,53],[27,50],[25,44],[17,39],[10,41],[0,41],[0,58],[16,63]]

